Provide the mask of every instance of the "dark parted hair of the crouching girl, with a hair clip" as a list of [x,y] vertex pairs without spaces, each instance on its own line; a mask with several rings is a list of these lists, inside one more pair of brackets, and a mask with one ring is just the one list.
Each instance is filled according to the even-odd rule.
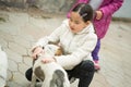
[[72,12],[78,12],[84,22],[93,20],[93,9],[90,4],[86,3],[79,3],[76,7],[73,8]]

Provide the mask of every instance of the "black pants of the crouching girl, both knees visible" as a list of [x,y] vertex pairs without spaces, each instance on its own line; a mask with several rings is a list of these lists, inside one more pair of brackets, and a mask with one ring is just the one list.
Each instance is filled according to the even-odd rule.
[[[79,86],[78,87],[88,87],[93,76],[94,76],[94,63],[90,60],[81,62],[76,65],[73,70],[67,71],[69,74],[69,79],[71,77],[79,78]],[[28,69],[25,73],[25,76],[28,80],[32,80],[32,67]]]

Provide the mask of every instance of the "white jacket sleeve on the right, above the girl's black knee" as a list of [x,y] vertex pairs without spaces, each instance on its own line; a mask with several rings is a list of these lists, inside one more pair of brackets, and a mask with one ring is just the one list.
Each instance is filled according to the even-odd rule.
[[81,63],[84,59],[88,59],[91,52],[96,46],[97,36],[91,35],[86,41],[81,45],[74,52],[68,55],[55,57],[57,63],[59,63],[66,70],[72,70],[75,65]]

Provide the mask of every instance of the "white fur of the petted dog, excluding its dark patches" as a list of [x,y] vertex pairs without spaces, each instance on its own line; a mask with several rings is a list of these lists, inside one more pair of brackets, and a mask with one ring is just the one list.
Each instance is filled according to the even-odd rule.
[[[60,70],[64,74],[64,77],[63,77],[64,78],[63,87],[70,87],[70,82],[68,79],[67,72],[59,64],[57,64],[56,62],[51,62],[51,63],[43,63],[41,62],[41,59],[44,59],[45,57],[46,58],[53,57],[55,52],[57,51],[57,49],[58,49],[58,46],[47,45],[45,47],[45,53],[44,53],[44,55],[40,55],[35,61],[35,64],[34,64],[34,67],[33,67],[33,76],[32,76],[31,87],[35,87],[37,76],[35,75],[34,71],[38,66],[41,67],[43,72],[45,74],[45,79],[43,82],[41,87],[50,87],[50,80],[52,79],[52,75],[53,75],[53,73],[55,73],[56,70]],[[57,87],[57,86],[55,86],[55,87]]]

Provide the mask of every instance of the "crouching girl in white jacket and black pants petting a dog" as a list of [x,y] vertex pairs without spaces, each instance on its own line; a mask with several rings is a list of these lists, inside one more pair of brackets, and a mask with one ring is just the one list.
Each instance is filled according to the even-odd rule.
[[[53,58],[44,58],[44,63],[57,62],[68,73],[69,79],[79,78],[78,87],[88,87],[94,76],[94,63],[91,52],[96,46],[97,36],[92,24],[93,9],[88,4],[78,4],[73,8],[70,18],[63,21],[51,35],[44,37],[33,47],[33,58],[44,52],[43,48],[49,42],[60,44],[63,54]],[[26,77],[31,80],[32,69],[27,70]]]

